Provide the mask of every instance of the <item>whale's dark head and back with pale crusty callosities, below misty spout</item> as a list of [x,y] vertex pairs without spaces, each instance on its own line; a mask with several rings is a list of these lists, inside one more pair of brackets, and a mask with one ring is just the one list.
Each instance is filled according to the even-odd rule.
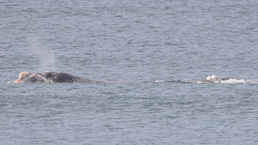
[[72,82],[96,82],[109,83],[109,81],[93,80],[86,77],[77,77],[67,73],[46,71],[45,73],[22,72],[14,83],[72,83]]

